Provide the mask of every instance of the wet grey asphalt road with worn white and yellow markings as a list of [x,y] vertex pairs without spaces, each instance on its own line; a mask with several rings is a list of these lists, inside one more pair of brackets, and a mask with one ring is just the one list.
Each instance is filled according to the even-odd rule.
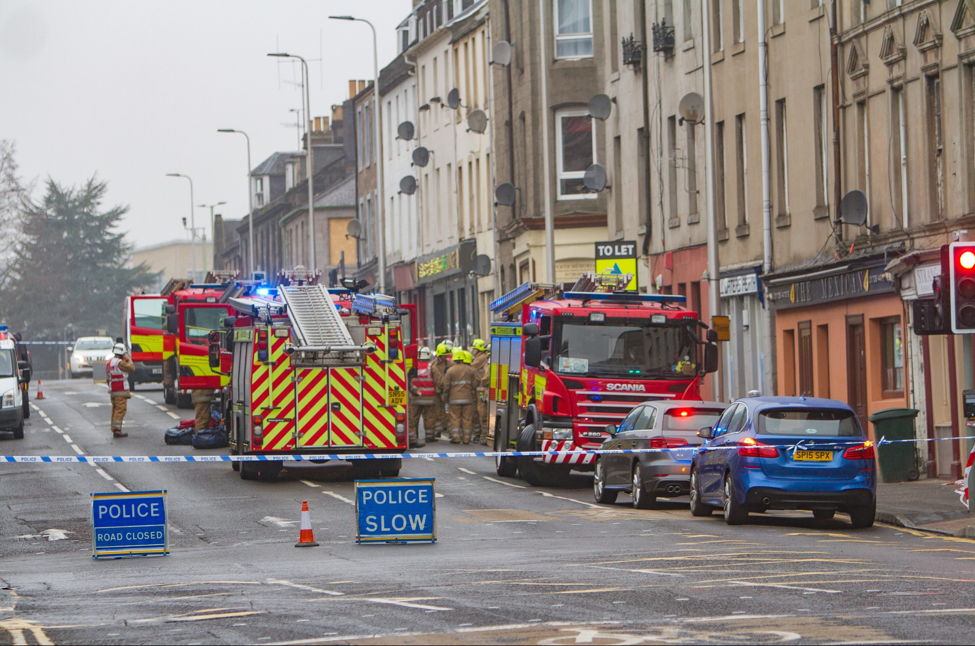
[[[139,388],[130,437],[113,440],[104,388],[44,390],[0,454],[193,451],[163,442],[189,411],[161,391]],[[808,513],[728,527],[682,503],[596,505],[586,475],[530,487],[454,458],[401,473],[437,478],[436,545],[358,546],[346,472],[295,464],[257,482],[227,464],[0,464],[0,644],[975,641],[972,540]],[[88,494],[116,488],[169,490],[171,555],[91,557]],[[302,500],[319,548],[293,548]]]

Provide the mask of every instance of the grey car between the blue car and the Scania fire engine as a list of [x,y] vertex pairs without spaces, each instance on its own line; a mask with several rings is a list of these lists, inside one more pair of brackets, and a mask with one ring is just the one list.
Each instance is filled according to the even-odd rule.
[[720,401],[648,401],[634,408],[619,427],[610,424],[604,449],[654,448],[655,452],[603,454],[596,460],[593,494],[597,503],[632,494],[637,509],[652,509],[657,498],[690,493],[697,432],[714,426],[726,408]]

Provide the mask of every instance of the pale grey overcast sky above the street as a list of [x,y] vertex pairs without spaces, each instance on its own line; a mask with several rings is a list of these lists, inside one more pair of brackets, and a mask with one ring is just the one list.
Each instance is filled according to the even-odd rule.
[[[108,181],[106,206],[129,205],[123,227],[138,247],[187,239],[185,179],[197,204],[247,213],[252,165],[298,143],[298,68],[310,62],[312,116],[348,98],[349,79],[372,78],[369,19],[379,68],[396,53],[410,0],[0,0],[0,138],[17,143],[20,174],[77,184]],[[196,209],[209,227],[209,209]],[[207,238],[210,239],[208,231]]]

